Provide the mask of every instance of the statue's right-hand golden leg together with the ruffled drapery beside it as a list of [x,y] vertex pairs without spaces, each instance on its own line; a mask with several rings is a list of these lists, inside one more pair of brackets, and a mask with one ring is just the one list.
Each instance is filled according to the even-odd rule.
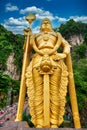
[[68,72],[66,65],[60,61],[50,77],[50,111],[51,127],[60,126],[65,113],[66,93],[68,84]]

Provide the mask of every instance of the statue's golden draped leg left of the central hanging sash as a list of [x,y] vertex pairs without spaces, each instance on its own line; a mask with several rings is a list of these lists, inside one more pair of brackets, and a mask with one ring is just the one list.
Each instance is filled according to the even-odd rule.
[[33,69],[33,82],[34,82],[34,108],[36,115],[36,128],[43,127],[43,77],[38,73],[36,68]]

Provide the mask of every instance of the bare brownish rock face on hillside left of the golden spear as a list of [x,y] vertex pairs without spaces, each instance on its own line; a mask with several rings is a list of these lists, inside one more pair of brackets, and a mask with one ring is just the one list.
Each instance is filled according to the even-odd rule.
[[9,75],[14,80],[19,80],[19,73],[17,71],[16,65],[14,65],[14,53],[11,53],[10,56],[7,59],[6,65],[7,70],[4,72],[4,74]]

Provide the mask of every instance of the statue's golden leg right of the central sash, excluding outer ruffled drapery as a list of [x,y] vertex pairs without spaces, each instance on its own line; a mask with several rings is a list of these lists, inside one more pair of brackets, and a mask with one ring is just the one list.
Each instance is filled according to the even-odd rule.
[[51,128],[58,127],[60,80],[61,80],[61,69],[56,68],[54,70],[54,73],[50,76]]

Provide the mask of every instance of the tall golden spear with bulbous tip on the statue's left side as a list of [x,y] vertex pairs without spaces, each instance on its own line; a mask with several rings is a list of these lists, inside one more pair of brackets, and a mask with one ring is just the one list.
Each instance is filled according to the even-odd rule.
[[[34,14],[29,14],[26,16],[26,20],[29,22],[29,25],[36,19]],[[21,74],[21,82],[20,82],[20,93],[19,93],[19,101],[18,101],[18,110],[15,121],[22,120],[22,112],[24,109],[25,95],[26,95],[26,84],[25,84],[25,73],[26,68],[29,65],[30,57],[30,36],[32,34],[30,26],[27,29],[24,29],[24,34],[27,36],[26,42],[24,44],[24,56],[23,56],[23,66],[22,66],[22,74]]]

